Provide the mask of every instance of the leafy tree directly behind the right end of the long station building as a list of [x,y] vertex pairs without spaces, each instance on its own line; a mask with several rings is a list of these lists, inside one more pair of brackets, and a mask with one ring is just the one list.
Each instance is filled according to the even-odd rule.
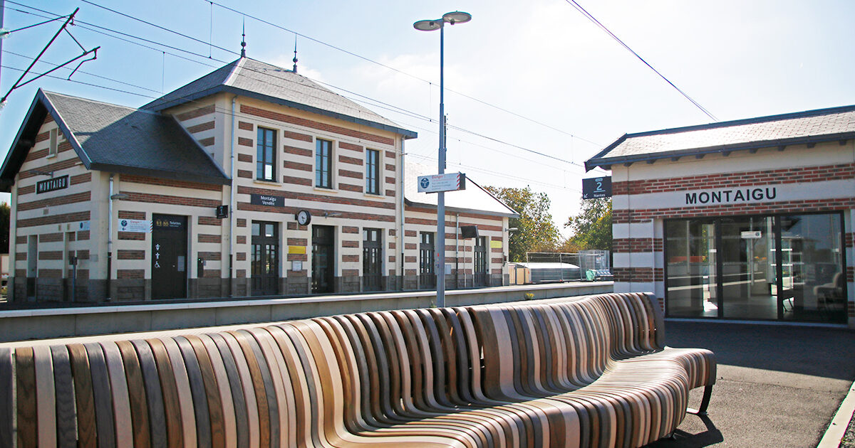
[[508,253],[510,261],[525,261],[526,252],[551,252],[558,242],[558,229],[552,223],[549,212],[550,200],[545,193],[535,193],[531,187],[512,189],[486,187],[508,207],[520,214],[520,218],[510,218]]

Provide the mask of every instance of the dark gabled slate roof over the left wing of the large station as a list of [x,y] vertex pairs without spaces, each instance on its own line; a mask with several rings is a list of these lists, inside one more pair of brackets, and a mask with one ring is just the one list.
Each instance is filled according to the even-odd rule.
[[38,90],[27,119],[0,168],[9,191],[47,114],[86,169],[202,183],[229,183],[227,175],[168,115]]

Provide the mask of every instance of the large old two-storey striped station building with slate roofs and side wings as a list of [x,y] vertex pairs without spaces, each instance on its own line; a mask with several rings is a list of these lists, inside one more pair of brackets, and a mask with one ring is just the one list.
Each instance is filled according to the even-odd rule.
[[[10,300],[434,288],[415,137],[245,57],[142,108],[39,90],[0,171]],[[446,197],[446,287],[506,284],[516,212],[471,179]]]

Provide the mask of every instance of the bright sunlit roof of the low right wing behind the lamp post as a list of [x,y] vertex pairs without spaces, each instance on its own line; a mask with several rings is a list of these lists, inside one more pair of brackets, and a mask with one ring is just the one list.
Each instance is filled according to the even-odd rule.
[[[435,208],[436,193],[419,193],[417,179],[419,176],[436,174],[436,167],[420,165],[413,162],[404,163],[404,201],[407,205],[416,207]],[[466,177],[466,189],[445,193],[445,210],[450,212],[468,212],[491,216],[506,216],[519,218],[519,213],[498,200],[471,177]]]

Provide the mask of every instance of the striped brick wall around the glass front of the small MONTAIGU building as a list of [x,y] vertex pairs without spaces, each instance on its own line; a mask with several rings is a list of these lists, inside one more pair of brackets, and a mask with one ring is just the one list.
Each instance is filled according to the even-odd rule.
[[[773,147],[760,149],[756,154],[740,151],[729,156],[707,155],[702,159],[691,156],[676,161],[612,166],[613,238],[615,241],[628,239],[624,241],[628,246],[644,246],[642,240],[662,238],[663,220],[667,218],[841,210],[844,211],[846,233],[851,234],[855,219],[853,168],[855,143],[852,140],[843,144],[817,143],[812,148],[799,145],[781,151]],[[730,176],[718,177],[722,173],[730,173]],[[775,198],[687,205],[687,194],[758,188],[774,188]],[[852,241],[851,236],[848,241]],[[852,279],[855,255],[851,242],[846,247],[846,265],[849,322],[855,327],[855,282]],[[615,290],[652,291],[662,299],[663,281],[636,279],[645,280],[646,270],[663,268],[661,250],[616,249]]]

